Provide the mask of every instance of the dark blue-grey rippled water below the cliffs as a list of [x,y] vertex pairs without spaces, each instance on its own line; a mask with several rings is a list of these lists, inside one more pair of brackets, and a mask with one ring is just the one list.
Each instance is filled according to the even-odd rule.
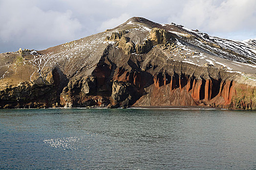
[[0,169],[255,170],[256,111],[0,110]]

